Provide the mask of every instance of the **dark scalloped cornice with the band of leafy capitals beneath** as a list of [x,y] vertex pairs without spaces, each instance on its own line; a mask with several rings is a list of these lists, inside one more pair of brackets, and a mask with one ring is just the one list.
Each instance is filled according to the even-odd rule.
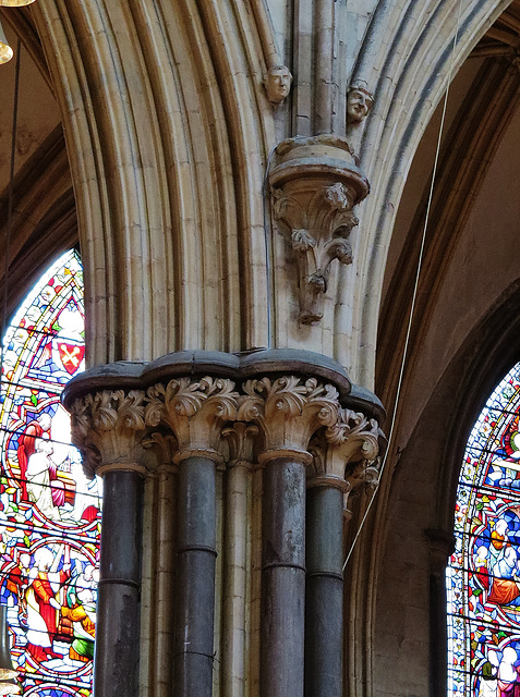
[[[201,377],[202,370],[215,375]],[[235,391],[237,380],[244,383]],[[264,461],[297,456],[307,462],[311,456],[306,448],[317,430],[328,429],[329,439],[338,445],[343,443],[347,431],[350,443],[358,431],[363,431],[358,415],[341,411],[341,404],[363,408],[374,428],[384,417],[375,395],[352,387],[340,365],[313,352],[268,350],[232,355],[194,351],[168,354],[149,364],[121,360],[85,371],[63,391],[63,405],[74,415],[76,440],[87,460],[94,458],[87,463],[90,472],[101,455],[105,463],[113,460],[118,448],[122,454],[129,451],[126,445],[117,447],[114,442],[111,453],[110,445],[100,442],[100,435],[121,429],[113,426],[119,424],[114,401],[126,408],[122,395],[137,394],[138,419],[132,423],[128,418],[128,430],[138,431],[143,448],[148,454],[156,452],[165,463],[179,461],[188,453],[221,462],[221,429],[231,421],[234,424],[225,435],[232,461],[251,462],[253,440],[258,440],[259,429],[266,451]],[[170,431],[177,439],[177,449]],[[353,451],[344,448],[352,458]],[[364,456],[370,453],[364,452]]]

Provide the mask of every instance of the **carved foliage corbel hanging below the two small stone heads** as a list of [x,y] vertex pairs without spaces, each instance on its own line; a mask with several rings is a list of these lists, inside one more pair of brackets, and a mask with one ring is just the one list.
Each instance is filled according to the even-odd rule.
[[287,228],[298,265],[300,321],[314,325],[323,317],[330,264],[352,264],[353,208],[368,182],[347,140],[331,135],[280,143],[269,182],[274,217]]

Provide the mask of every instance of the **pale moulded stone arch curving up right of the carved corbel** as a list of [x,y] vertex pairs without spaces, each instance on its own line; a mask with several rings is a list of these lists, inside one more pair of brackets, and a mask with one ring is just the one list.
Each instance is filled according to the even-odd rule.
[[477,5],[435,0],[414,9],[413,2],[396,5],[382,1],[372,15],[352,74],[352,80],[365,80],[375,93],[373,111],[354,136],[361,168],[373,192],[361,206],[361,281],[356,280],[353,311],[353,334],[358,337],[352,342],[356,354],[352,357],[353,375],[363,384],[370,386],[374,379],[379,283],[413,155],[446,89],[450,62],[455,76],[471,48],[508,4],[507,0]]

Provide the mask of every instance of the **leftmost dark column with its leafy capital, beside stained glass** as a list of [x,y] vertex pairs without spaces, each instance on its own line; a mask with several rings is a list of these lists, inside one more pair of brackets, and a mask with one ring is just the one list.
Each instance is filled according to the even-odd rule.
[[[72,392],[73,390],[71,390]],[[94,690],[136,697],[142,552],[142,477],[149,454],[142,390],[102,390],[71,407],[73,442],[84,468],[104,477]]]

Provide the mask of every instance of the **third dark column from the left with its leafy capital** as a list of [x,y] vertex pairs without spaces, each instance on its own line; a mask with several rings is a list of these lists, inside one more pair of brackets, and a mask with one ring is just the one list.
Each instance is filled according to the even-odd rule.
[[249,380],[239,419],[264,437],[261,695],[303,695],[305,467],[313,433],[338,418],[338,392],[316,379]]

